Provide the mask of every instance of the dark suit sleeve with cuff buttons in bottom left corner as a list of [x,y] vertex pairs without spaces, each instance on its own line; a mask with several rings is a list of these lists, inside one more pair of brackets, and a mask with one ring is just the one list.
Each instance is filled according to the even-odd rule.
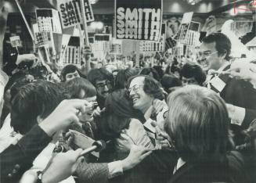
[[34,158],[51,140],[41,127],[35,125],[16,145],[5,149],[0,154],[1,182],[19,181],[22,174],[32,166]]

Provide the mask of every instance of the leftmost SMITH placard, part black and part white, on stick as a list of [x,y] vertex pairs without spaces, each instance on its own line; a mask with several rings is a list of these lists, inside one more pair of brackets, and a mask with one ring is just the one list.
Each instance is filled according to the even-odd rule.
[[38,31],[62,34],[59,12],[55,9],[36,10]]

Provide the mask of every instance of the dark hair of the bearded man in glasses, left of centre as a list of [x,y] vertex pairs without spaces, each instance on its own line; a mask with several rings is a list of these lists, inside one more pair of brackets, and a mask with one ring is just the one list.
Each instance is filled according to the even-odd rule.
[[96,86],[96,81],[108,80],[114,86],[114,76],[106,68],[101,67],[99,69],[90,70],[88,73],[88,81]]

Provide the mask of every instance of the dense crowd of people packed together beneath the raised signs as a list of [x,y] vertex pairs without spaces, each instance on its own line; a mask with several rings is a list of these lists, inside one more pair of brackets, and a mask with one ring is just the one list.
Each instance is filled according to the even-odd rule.
[[1,182],[256,182],[256,57],[233,58],[224,33],[198,41],[192,56],[139,62],[87,51],[79,68],[5,55]]

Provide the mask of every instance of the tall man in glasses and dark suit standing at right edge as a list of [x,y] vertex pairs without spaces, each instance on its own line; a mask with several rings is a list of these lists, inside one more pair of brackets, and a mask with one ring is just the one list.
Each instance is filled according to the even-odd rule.
[[[249,82],[237,80],[225,73],[230,69],[230,50],[231,42],[225,34],[210,34],[200,45],[200,63],[207,66],[207,88],[216,91],[225,100],[231,118],[236,114],[232,124],[238,124],[245,129],[251,124],[251,109],[256,109],[256,90]],[[236,133],[237,128],[235,138]]]

